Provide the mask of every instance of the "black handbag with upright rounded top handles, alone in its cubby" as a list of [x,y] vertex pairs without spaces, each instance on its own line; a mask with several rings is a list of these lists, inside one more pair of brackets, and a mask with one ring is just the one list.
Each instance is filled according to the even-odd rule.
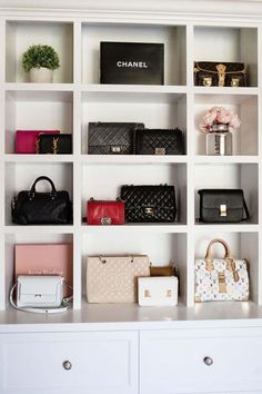
[[[40,180],[48,180],[50,193],[36,191]],[[41,176],[30,190],[22,190],[12,198],[12,220],[18,225],[64,225],[72,223],[72,204],[68,191],[57,191],[52,180]]]

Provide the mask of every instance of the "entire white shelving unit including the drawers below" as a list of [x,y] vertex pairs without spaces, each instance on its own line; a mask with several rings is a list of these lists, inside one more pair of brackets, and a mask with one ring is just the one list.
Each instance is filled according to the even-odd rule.
[[[210,1],[198,0],[198,7],[191,0],[174,1],[172,6],[165,0],[161,4],[152,0],[149,10],[143,0],[133,0],[129,6],[113,0],[104,10],[102,1],[88,0],[85,6],[82,2],[70,6],[64,0],[58,10],[44,0],[47,9],[43,11],[33,6],[19,8],[19,1],[14,8],[2,2],[0,0],[0,359],[3,362],[0,363],[0,375],[4,374],[4,380],[0,382],[0,394],[28,394],[32,390],[40,394],[59,394],[64,388],[70,394],[195,394],[205,390],[213,394],[224,393],[222,384],[215,388],[208,383],[206,388],[202,382],[212,381],[212,376],[215,381],[224,373],[221,370],[224,352],[234,338],[232,348],[243,345],[243,354],[245,351],[248,354],[240,371],[249,371],[253,378],[253,383],[244,382],[243,392],[261,393],[261,361],[256,357],[253,368],[248,349],[262,346],[262,4],[239,1],[236,12],[233,1],[223,1],[221,10],[221,2],[215,0],[212,6]],[[100,41],[163,42],[164,85],[100,85]],[[52,45],[61,59],[61,68],[56,70],[51,85],[29,83],[21,68],[26,48],[41,42]],[[195,87],[194,60],[246,62],[249,87]],[[241,119],[241,127],[233,135],[233,156],[205,156],[204,135],[199,130],[199,124],[204,111],[216,105],[233,109]],[[184,132],[185,155],[88,155],[90,121],[139,121],[149,128],[179,127]],[[38,128],[57,128],[71,134],[72,155],[16,155],[16,130]],[[40,175],[51,177],[57,189],[70,193],[72,225],[12,224],[11,197],[29,189]],[[178,219],[173,224],[103,227],[88,226],[83,220],[90,197],[114,199],[121,185],[164,183],[175,186]],[[44,189],[46,185],[41,187]],[[250,220],[223,225],[198,223],[198,190],[211,187],[242,188]],[[235,257],[245,257],[250,262],[251,295],[246,303],[194,304],[194,259],[204,256],[209,242],[216,237],[230,244]],[[9,305],[9,290],[14,275],[14,245],[62,242],[73,245],[72,308],[56,316],[13,311]],[[112,253],[148,254],[153,265],[174,262],[180,276],[179,306],[89,305],[85,297],[87,256]],[[214,253],[221,255],[221,246],[215,246]],[[195,328],[199,328],[198,334]],[[221,352],[214,349],[218,337],[222,338],[219,342]],[[204,348],[201,352],[199,338]],[[91,342],[93,339],[97,347]],[[180,347],[175,353],[177,342]],[[185,367],[189,353],[183,353],[181,343],[191,342],[195,344],[194,357],[201,353],[201,363],[214,351],[218,370],[211,375],[206,375],[205,370],[199,374],[203,363],[199,368],[190,364],[195,371],[192,382],[198,380],[195,387],[191,386],[190,380],[183,387],[180,378],[173,388],[175,378],[170,381],[172,374],[168,376],[164,371],[170,371],[170,365],[181,366],[181,359]],[[103,346],[107,347],[107,359]],[[72,375],[67,375],[67,378],[73,376],[74,382],[72,377],[64,380],[64,375],[60,376],[60,371],[53,381],[50,380],[50,387],[44,388],[39,383],[42,382],[41,363],[30,364],[32,381],[22,380],[26,376],[22,356],[13,368],[13,355],[19,353],[18,348],[27,348],[33,356],[40,348],[41,363],[48,365],[50,355],[56,353],[50,362],[52,372],[57,372],[57,355],[61,361],[72,357],[82,370],[75,367]],[[158,352],[161,348],[161,365],[150,348]],[[81,349],[87,354],[83,352],[83,355]],[[240,393],[242,375],[235,366],[240,359],[234,358],[233,353],[226,358],[232,377],[226,392]],[[147,354],[150,355],[148,358]],[[117,362],[118,356],[123,359],[121,365]],[[91,371],[95,366],[105,371],[104,359],[108,362],[110,357],[115,362],[115,371],[121,371],[117,376],[110,368],[104,385],[101,385]],[[196,363],[196,358],[192,359]],[[160,381],[155,381],[158,374],[152,376],[151,373],[158,368],[165,382],[162,388]],[[13,370],[16,380],[23,381],[21,387],[11,378]],[[85,371],[89,380],[84,378]],[[140,376],[143,376],[142,383],[139,383]]]

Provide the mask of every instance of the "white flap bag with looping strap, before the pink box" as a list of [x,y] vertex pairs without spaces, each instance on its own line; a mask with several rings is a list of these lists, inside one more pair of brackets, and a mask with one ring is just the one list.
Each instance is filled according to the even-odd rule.
[[[20,275],[10,292],[10,303],[16,309],[26,312],[63,312],[72,298],[63,298],[63,285],[64,278],[59,275]],[[13,301],[16,288],[17,304]]]

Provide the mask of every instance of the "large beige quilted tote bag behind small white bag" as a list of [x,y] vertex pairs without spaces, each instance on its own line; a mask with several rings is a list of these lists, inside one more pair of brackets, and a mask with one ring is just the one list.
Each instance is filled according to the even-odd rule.
[[149,275],[148,256],[90,256],[87,262],[88,302],[137,303],[138,277]]

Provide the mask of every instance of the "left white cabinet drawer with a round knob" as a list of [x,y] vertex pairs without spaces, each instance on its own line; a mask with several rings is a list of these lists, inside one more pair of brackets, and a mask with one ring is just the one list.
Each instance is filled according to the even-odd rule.
[[0,335],[0,393],[137,394],[135,332]]

